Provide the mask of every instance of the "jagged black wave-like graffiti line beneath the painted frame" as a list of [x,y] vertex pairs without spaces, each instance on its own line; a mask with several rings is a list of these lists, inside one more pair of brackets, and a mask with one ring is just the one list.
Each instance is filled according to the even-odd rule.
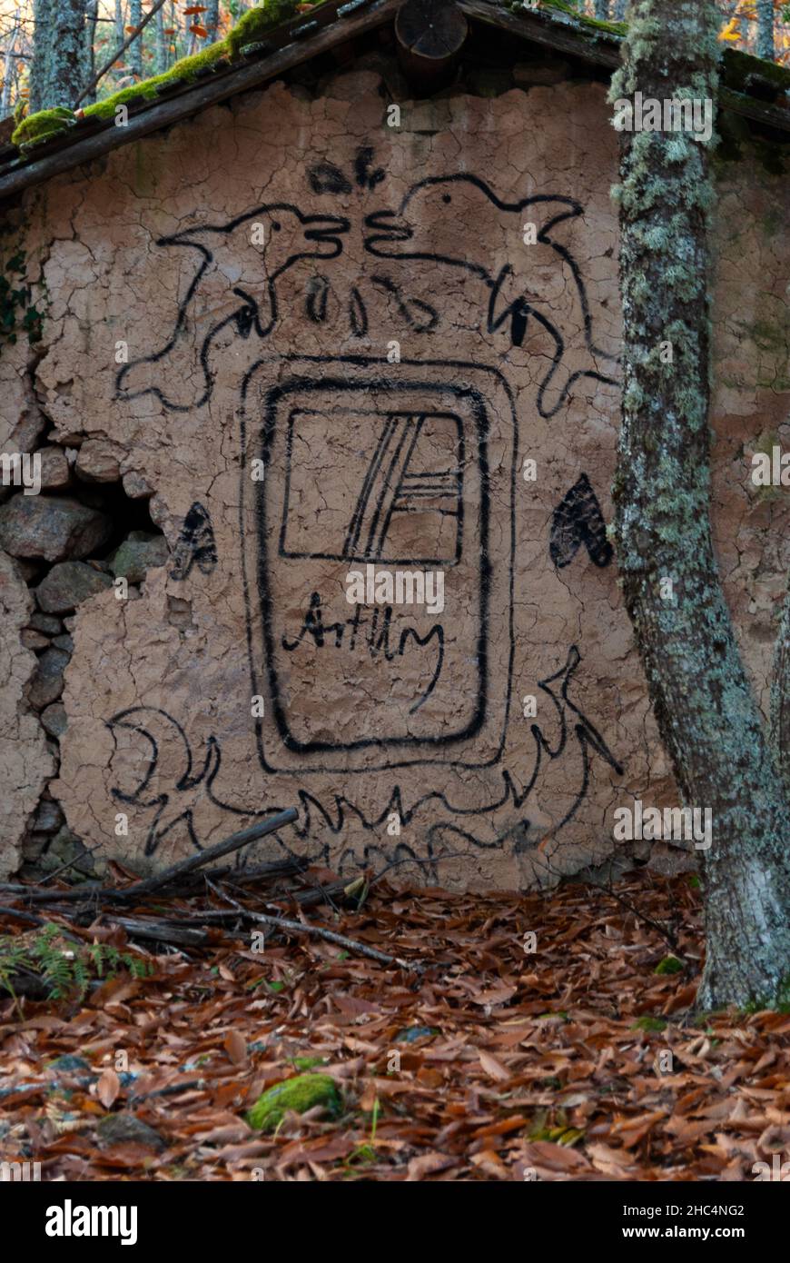
[[[548,762],[550,765],[558,759],[568,758],[569,743],[573,738],[575,739],[577,751],[581,758],[581,774],[573,802],[565,816],[553,830],[553,834],[557,835],[574,818],[589,792],[594,755],[617,775],[622,775],[625,770],[623,765],[610,750],[601,733],[570,697],[570,688],[581,662],[582,658],[578,648],[572,645],[564,664],[553,672],[553,674],[539,681],[538,687],[549,698],[559,725],[559,733],[555,743],[551,744],[545,738],[539,724],[530,725],[535,748],[534,759],[529,774],[525,775],[520,786],[516,784],[512,774],[507,769],[504,769],[501,794],[492,801],[480,803],[475,807],[461,807],[453,803],[447,794],[435,791],[422,794],[411,803],[405,803],[401,787],[395,784],[381,810],[372,816],[366,815],[345,793],[334,793],[329,803],[322,802],[315,793],[300,788],[298,791],[299,818],[294,823],[294,836],[298,839],[298,844],[290,841],[290,834],[288,839],[275,835],[270,839],[270,842],[276,842],[289,855],[308,858],[313,863],[328,864],[332,854],[332,837],[341,835],[348,826],[350,820],[353,820],[355,825],[365,832],[379,832],[392,816],[398,818],[401,827],[408,827],[428,805],[439,806],[449,816],[458,820],[490,816],[500,808],[509,806],[519,812],[528,803],[530,794],[535,789],[545,763]],[[106,722],[106,727],[112,734],[114,740],[116,730],[126,729],[138,733],[149,743],[150,753],[146,760],[146,770],[140,782],[131,791],[122,791],[117,786],[111,789],[116,802],[144,811],[154,811],[145,842],[146,855],[155,854],[165,837],[179,826],[187,832],[192,845],[197,850],[202,850],[202,842],[197,836],[194,825],[194,810],[198,794],[222,812],[231,812],[236,816],[249,818],[265,818],[283,810],[283,806],[279,803],[265,807],[232,805],[217,794],[215,782],[221,768],[221,749],[217,738],[213,735],[208,736],[202,767],[198,772],[193,772],[196,760],[183,726],[160,707],[129,707],[114,715]],[[169,778],[167,788],[156,786],[156,789],[154,789],[151,782],[159,775],[162,750],[165,745],[172,746],[173,744],[175,744],[178,750],[177,763],[179,764],[180,773],[177,777]],[[423,865],[423,868],[427,864],[428,875],[432,879],[438,879],[439,864],[448,856],[445,839],[451,839],[452,845],[449,846],[449,851],[457,851],[458,845],[468,845],[468,847],[478,850],[501,849],[506,840],[512,841],[514,847],[519,850],[524,846],[522,840],[525,837],[529,839],[529,818],[520,816],[517,823],[511,823],[506,834],[498,834],[485,840],[480,834],[472,832],[469,826],[462,827],[453,821],[439,821],[432,825],[427,832],[424,856],[420,856],[405,841],[392,840],[391,844],[386,844],[377,840],[375,844],[365,844],[361,855],[345,851],[338,863],[342,869],[343,863],[352,855],[355,864],[358,865],[362,863],[379,870],[392,861],[413,860],[415,864],[419,863]],[[244,861],[244,856],[240,861]]]

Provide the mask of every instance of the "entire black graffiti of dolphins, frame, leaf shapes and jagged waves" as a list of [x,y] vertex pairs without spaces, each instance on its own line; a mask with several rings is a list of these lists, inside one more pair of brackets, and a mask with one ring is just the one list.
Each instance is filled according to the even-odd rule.
[[[367,196],[384,181],[385,172],[375,165],[370,145],[357,150],[350,174],[332,163],[319,163],[308,172],[310,193],[322,198]],[[355,186],[358,195],[355,195]],[[572,302],[575,304],[574,318],[569,321],[568,328],[563,325],[562,313],[558,316],[550,299],[541,296],[539,285],[530,284],[529,275],[519,278],[511,263],[493,270],[473,256],[472,248],[463,256],[461,253],[458,256],[449,256],[437,254],[430,249],[430,242],[419,240],[418,232],[432,222],[429,208],[423,203],[438,198],[439,208],[447,207],[461,187],[466,195],[472,193],[478,198],[482,210],[505,217],[512,232],[520,231],[521,224],[528,218],[538,221],[538,241],[551,251],[557,268],[564,269],[565,290],[572,293]],[[351,227],[351,220],[346,216],[305,213],[292,203],[278,202],[259,206],[225,225],[196,227],[163,237],[158,242],[160,246],[197,251],[196,273],[179,304],[173,335],[167,345],[154,355],[124,365],[116,376],[116,392],[119,397],[127,399],[151,393],[165,408],[177,412],[204,404],[213,390],[217,354],[225,345],[230,345],[228,338],[240,337],[250,341],[254,347],[269,337],[280,316],[281,294],[278,292],[278,282],[303,259],[321,260],[322,269],[326,269],[313,272],[304,285],[303,312],[310,325],[328,325],[345,311],[353,336],[362,338],[376,335],[381,332],[377,323],[381,320],[381,302],[375,302],[379,296],[386,303],[386,332],[392,327],[391,317],[395,313],[409,331],[433,335],[447,314],[447,302],[440,288],[432,289],[430,302],[418,299],[409,294],[408,282],[404,282],[403,272],[399,272],[401,260],[416,264],[424,260],[433,265],[466,269],[473,285],[469,287],[468,296],[464,292],[464,298],[477,306],[481,325],[487,333],[505,333],[510,346],[522,346],[531,327],[543,330],[550,337],[553,351],[538,384],[536,405],[541,416],[551,417],[568,399],[577,380],[613,380],[597,368],[597,360],[615,357],[608,356],[594,342],[581,269],[560,240],[563,224],[572,222],[582,213],[581,203],[568,197],[540,195],[519,202],[504,202],[476,176],[458,173],[430,177],[413,184],[398,210],[379,210],[363,218],[366,253],[387,260],[391,272],[379,266],[371,275],[350,285],[343,285],[342,278],[339,282],[334,279],[329,269],[331,260],[341,256],[343,237]],[[221,318],[212,321],[212,316],[208,316],[206,325],[201,327],[201,336],[191,338],[197,318],[196,296],[201,285],[209,275],[215,280],[220,278],[220,283],[222,277],[232,275],[233,269],[239,275],[239,250],[247,241],[255,224],[262,225],[268,242],[261,258],[260,278],[256,279],[252,269],[245,274],[244,283],[233,284],[228,280],[226,293],[231,297],[232,309],[228,313],[228,304],[225,302]],[[486,235],[477,224],[475,240],[481,242],[480,253],[485,259]],[[279,253],[278,241],[286,244]],[[211,303],[204,306],[211,312],[216,311]],[[579,330],[575,344],[574,335],[569,332],[574,325]],[[194,362],[186,376],[198,385],[197,398],[187,405],[173,398],[168,374],[173,370],[172,356],[175,350],[189,345],[194,350]],[[568,368],[569,360],[581,362],[582,366],[572,371]],[[261,412],[256,412],[254,407],[250,416],[255,414],[255,419],[247,419],[247,405],[257,403],[247,397],[247,392],[259,369],[266,373],[274,364],[276,373],[269,373],[262,428],[259,431]],[[498,380],[496,389],[500,394],[496,403],[488,386],[469,384],[476,381],[475,375],[483,374],[488,375],[488,381]],[[143,380],[135,381],[140,376]],[[350,402],[355,392],[358,399]],[[347,452],[351,451],[357,464],[348,462],[347,512],[345,515],[336,515],[337,520],[323,515],[322,496],[310,495],[310,488],[304,481],[304,462],[294,455],[297,446],[305,443],[310,414],[314,414],[315,408],[332,412],[333,393],[343,399],[342,409],[339,405],[336,409],[337,417],[342,413],[346,418],[343,423],[353,424],[356,412],[365,418],[366,431],[363,441],[347,445],[343,450],[345,457],[348,460]],[[371,403],[372,395],[377,393],[385,400],[384,404]],[[453,395],[449,405],[448,395]],[[440,407],[434,402],[439,397],[443,397]],[[575,645],[569,649],[564,666],[539,685],[550,698],[553,714],[559,721],[559,739],[550,744],[541,727],[531,725],[535,746],[533,765],[526,769],[525,778],[516,775],[512,767],[502,767],[501,793],[493,801],[461,807],[449,792],[434,791],[406,802],[401,788],[403,778],[398,772],[400,768],[432,764],[456,772],[493,768],[502,762],[505,753],[514,668],[514,494],[517,452],[517,417],[506,379],[486,365],[453,360],[398,360],[396,365],[390,365],[362,355],[288,355],[269,361],[259,359],[245,375],[241,402],[241,447],[245,455],[241,467],[240,536],[244,542],[252,534],[250,518],[245,517],[245,504],[254,500],[256,549],[255,562],[247,566],[245,561],[244,568],[252,693],[268,693],[271,700],[270,714],[266,716],[268,734],[276,733],[288,757],[295,760],[281,764],[271,762],[269,746],[264,743],[264,724],[257,720],[255,733],[261,768],[265,773],[293,774],[298,782],[308,773],[333,774],[341,768],[343,781],[356,773],[392,773],[386,782],[386,805],[370,816],[355,805],[351,791],[333,793],[321,801],[298,783],[295,794],[300,805],[300,818],[297,834],[300,854],[321,858],[326,863],[332,837],[347,827],[350,820],[366,832],[380,831],[394,812],[401,825],[408,826],[429,805],[443,810],[449,818],[428,829],[427,858],[418,855],[405,842],[392,840],[391,844],[381,844],[376,840],[365,842],[363,861],[389,863],[392,858],[427,861],[435,877],[438,865],[448,856],[448,847],[452,850],[453,845],[483,849],[504,845],[519,849],[530,845],[528,813],[522,808],[528,806],[548,764],[575,757],[581,765],[578,788],[572,807],[557,829],[564,827],[588,793],[594,758],[617,774],[622,773],[621,764],[601,734],[569,696],[581,663]],[[498,472],[488,466],[490,426],[493,417],[500,418],[497,424],[505,426],[511,436],[511,447],[504,464],[498,458],[498,465],[502,466]],[[442,438],[440,443],[435,442],[437,434]],[[273,460],[275,438],[283,445],[278,448],[276,461]],[[249,447],[249,440],[256,446]],[[433,450],[443,453],[442,461],[432,457]],[[284,477],[274,480],[268,476],[262,482],[252,485],[246,464],[247,453],[261,457],[268,470],[284,469]],[[497,518],[496,547],[491,544],[488,520],[493,503],[493,477],[498,479],[495,498],[498,514],[501,517],[502,506],[506,506],[507,518],[501,532]],[[273,490],[275,499],[270,503]],[[292,501],[308,504],[309,513],[292,512]],[[413,539],[404,547],[403,541],[409,537],[403,528],[411,520],[419,523],[419,529],[413,532]],[[558,567],[567,566],[582,543],[597,566],[608,565],[612,549],[606,539],[598,501],[584,475],[554,513],[549,543],[551,560]],[[433,714],[437,711],[435,702],[444,676],[449,674],[444,673],[449,643],[445,620],[437,618],[433,624],[424,624],[422,629],[416,625],[404,626],[403,621],[396,625],[390,605],[372,609],[350,606],[348,618],[339,619],[336,614],[326,615],[322,592],[310,586],[305,587],[304,609],[286,630],[279,624],[275,634],[273,565],[281,562],[290,566],[302,561],[314,563],[326,560],[350,566],[372,562],[440,567],[447,573],[462,561],[464,566],[472,566],[473,580],[464,580],[464,597],[472,611],[466,619],[471,630],[464,630],[464,635],[471,638],[466,644],[464,658],[466,710],[454,729],[452,724],[447,724],[445,717],[434,719]],[[203,573],[209,573],[217,565],[211,519],[198,501],[192,505],[184,520],[172,575],[174,578],[186,578],[196,565]],[[254,643],[254,624],[260,624],[262,649]],[[495,629],[500,653],[496,668],[490,645]],[[403,709],[405,715],[419,720],[423,726],[414,731],[399,731],[394,724],[391,730],[382,725],[375,738],[342,734],[337,739],[304,739],[292,730],[281,678],[288,678],[288,655],[293,657],[305,648],[315,658],[319,654],[326,657],[331,653],[360,650],[367,654],[376,671],[382,668],[382,683],[387,678],[384,668],[396,671],[399,662],[406,655],[410,657],[413,668],[414,662],[419,661],[420,669],[411,669],[419,687],[413,697],[406,698]],[[395,678],[395,674],[389,678]],[[459,677],[456,674],[454,678]],[[264,682],[266,688],[262,687]],[[386,693],[386,686],[384,692]],[[440,711],[440,706],[438,710]],[[194,823],[198,802],[202,811],[206,803],[211,803],[218,812],[228,811],[247,817],[268,816],[280,810],[279,806],[245,808],[223,801],[216,792],[221,767],[217,739],[208,738],[198,760],[199,770],[193,772],[194,760],[186,731],[163,710],[133,707],[119,712],[107,726],[114,735],[117,729],[134,729],[149,743],[150,760],[140,782],[131,791],[121,791],[120,787],[112,791],[117,801],[153,811],[146,854],[153,854],[177,827],[184,829],[192,844],[199,847],[202,844]],[[477,738],[485,738],[480,743],[485,754],[478,753],[475,745]],[[158,786],[154,792],[151,778],[160,760],[163,740],[177,743],[183,753],[183,763],[178,775],[165,788]],[[355,762],[356,755],[360,759]],[[509,811],[511,816],[505,831],[492,834],[490,821],[486,827],[473,823],[475,817],[491,816],[498,810]],[[285,845],[279,839],[276,841]],[[342,863],[352,860],[358,863],[360,858],[353,849],[346,849]]]

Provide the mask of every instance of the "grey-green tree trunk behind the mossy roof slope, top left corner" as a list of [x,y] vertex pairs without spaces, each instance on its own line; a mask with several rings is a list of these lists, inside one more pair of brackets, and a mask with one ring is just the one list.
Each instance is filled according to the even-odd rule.
[[86,82],[86,0],[34,0],[30,114],[71,106]]

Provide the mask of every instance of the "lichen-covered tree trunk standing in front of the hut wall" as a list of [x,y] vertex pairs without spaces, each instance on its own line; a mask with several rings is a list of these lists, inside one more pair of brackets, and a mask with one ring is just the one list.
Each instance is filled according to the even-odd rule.
[[[714,0],[634,0],[612,99],[716,100],[718,28]],[[623,131],[618,201],[618,563],[684,805],[712,811],[698,1004],[772,1003],[790,974],[790,810],[710,537],[708,145]]]

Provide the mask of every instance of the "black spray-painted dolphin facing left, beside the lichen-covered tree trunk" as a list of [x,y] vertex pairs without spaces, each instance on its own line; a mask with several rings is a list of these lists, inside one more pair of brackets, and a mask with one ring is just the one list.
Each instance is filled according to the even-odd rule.
[[[495,234],[493,227],[488,230],[485,227],[486,221],[491,220],[492,212],[496,212],[500,220],[505,217],[509,221],[501,231],[514,236],[521,232],[525,220],[538,218],[536,240],[541,245],[551,248],[557,255],[558,266],[565,265],[570,272],[581,313],[579,325],[583,330],[584,357],[588,362],[582,369],[572,373],[565,371],[565,379],[560,380],[559,385],[563,360],[572,337],[559,328],[551,318],[550,304],[541,301],[539,293],[531,290],[530,285],[534,284],[531,275],[528,273],[524,279],[516,277],[510,263],[495,274],[485,263],[473,258],[473,250],[456,256],[438,254],[433,249],[432,225],[435,226],[442,213],[442,206],[447,207],[453,200],[453,192],[461,187],[463,187],[467,200],[476,205],[477,213],[472,216],[471,222],[475,225],[475,239],[481,244],[481,254],[485,254],[486,242],[490,242]],[[593,341],[592,314],[581,269],[570,251],[557,240],[555,230],[563,222],[581,215],[583,215],[581,202],[570,197],[541,193],[521,198],[517,202],[504,202],[491,186],[478,176],[466,173],[429,176],[411,186],[396,211],[381,210],[367,216],[365,224],[370,231],[365,240],[365,249],[381,259],[423,260],[464,269],[481,280],[487,289],[488,298],[485,306],[488,333],[507,328],[514,346],[524,344],[530,321],[538,323],[554,344],[550,366],[538,389],[538,410],[541,417],[553,417],[559,412],[572,386],[579,379],[589,378],[597,381],[615,383],[615,379],[602,374],[596,364],[598,359],[613,362],[616,356],[596,346]],[[428,240],[420,241],[416,237],[420,229],[415,225],[423,226],[423,231],[428,232]],[[550,389],[558,392],[558,398],[553,404],[548,400]]]

